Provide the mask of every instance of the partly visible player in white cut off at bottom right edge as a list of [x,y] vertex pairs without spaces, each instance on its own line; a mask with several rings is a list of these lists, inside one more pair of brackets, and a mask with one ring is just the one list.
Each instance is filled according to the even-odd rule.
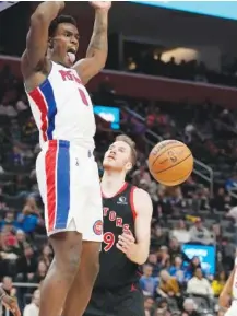
[[[230,301],[232,305],[229,307]],[[235,267],[218,297],[218,305],[221,311],[225,313],[225,316],[237,315],[237,256],[235,259]]]

